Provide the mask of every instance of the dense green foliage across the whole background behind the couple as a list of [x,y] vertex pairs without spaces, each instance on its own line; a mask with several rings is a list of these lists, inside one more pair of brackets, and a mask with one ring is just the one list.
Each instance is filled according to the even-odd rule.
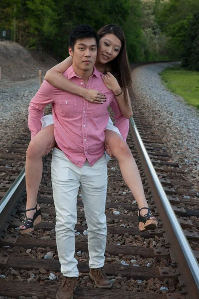
[[130,61],[183,59],[184,67],[198,70],[197,8],[199,0],[6,0],[0,1],[0,29],[62,59],[76,25],[98,30],[114,23],[124,30]]

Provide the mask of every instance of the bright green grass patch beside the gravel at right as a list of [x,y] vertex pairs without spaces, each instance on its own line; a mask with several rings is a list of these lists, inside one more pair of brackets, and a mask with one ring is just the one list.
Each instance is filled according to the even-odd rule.
[[171,92],[199,109],[199,72],[186,71],[178,65],[166,68],[159,75]]

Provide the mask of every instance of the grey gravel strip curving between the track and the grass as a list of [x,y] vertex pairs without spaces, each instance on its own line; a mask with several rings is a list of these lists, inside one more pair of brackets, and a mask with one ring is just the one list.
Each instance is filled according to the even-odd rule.
[[162,138],[173,161],[187,172],[197,192],[199,182],[199,111],[171,93],[159,73],[176,63],[149,64],[132,72],[133,93],[139,108]]

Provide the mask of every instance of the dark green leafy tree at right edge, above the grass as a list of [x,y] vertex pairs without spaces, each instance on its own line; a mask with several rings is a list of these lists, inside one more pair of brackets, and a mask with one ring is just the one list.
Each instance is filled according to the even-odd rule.
[[156,22],[168,37],[170,59],[180,59],[183,67],[199,71],[199,0],[156,0]]

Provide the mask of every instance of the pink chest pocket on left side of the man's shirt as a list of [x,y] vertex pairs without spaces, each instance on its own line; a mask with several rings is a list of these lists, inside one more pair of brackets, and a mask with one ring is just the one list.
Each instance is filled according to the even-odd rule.
[[59,95],[58,103],[59,103],[59,111],[60,115],[63,117],[76,117],[77,116],[77,106],[76,106],[76,97],[66,97]]

